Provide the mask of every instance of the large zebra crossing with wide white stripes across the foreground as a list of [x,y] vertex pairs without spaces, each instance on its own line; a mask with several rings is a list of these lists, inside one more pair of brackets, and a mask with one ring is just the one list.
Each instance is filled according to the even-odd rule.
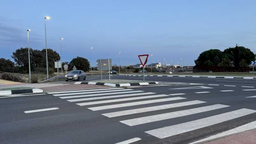
[[[74,104],[78,106],[90,109],[92,111],[97,111],[101,115],[113,119],[127,115],[132,116],[134,114],[154,112],[152,114],[147,113],[147,116],[136,115],[136,117],[119,121],[120,123],[131,127],[149,123],[161,123],[161,121],[164,120],[175,121],[175,118],[178,117],[200,115],[201,113],[207,112],[211,114],[214,110],[219,112],[221,112],[221,110],[225,111],[224,113],[218,113],[215,115],[213,113],[211,116],[205,116],[204,118],[188,121],[185,123],[175,125],[170,124],[164,127],[144,131],[145,133],[159,139],[164,139],[181,133],[191,132],[204,127],[210,127],[215,124],[227,122],[256,112],[256,110],[248,108],[227,110],[227,108],[231,106],[223,104],[207,105],[206,101],[189,100],[188,97],[178,97],[177,94],[157,94],[155,92],[137,91],[123,87],[67,92],[48,92],[48,94],[52,94],[53,96],[67,100],[68,102],[74,102]],[[179,93],[179,95],[182,94],[183,93]],[[164,104],[161,102],[164,102]],[[166,104],[168,102],[170,103]],[[147,106],[145,106],[146,104]],[[148,107],[148,105],[151,104],[154,106]],[[204,105],[202,106],[202,104]],[[131,109],[132,106],[139,108]],[[167,113],[161,112],[163,110],[182,108],[185,106],[190,107],[188,109],[176,110]],[[120,110],[120,108],[122,109]],[[106,113],[105,110],[110,110],[111,112]],[[158,112],[160,114],[156,114]]]

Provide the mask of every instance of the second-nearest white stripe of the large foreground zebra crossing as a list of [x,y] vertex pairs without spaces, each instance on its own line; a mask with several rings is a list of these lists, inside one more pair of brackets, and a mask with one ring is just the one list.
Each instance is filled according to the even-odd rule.
[[161,120],[166,120],[166,119],[171,119],[171,118],[176,118],[181,116],[193,115],[197,113],[202,113],[202,112],[211,111],[211,110],[220,109],[220,108],[226,108],[226,107],[229,107],[229,106],[216,104],[211,106],[186,109],[186,110],[164,113],[159,115],[133,118],[133,119],[128,119],[120,122],[123,124],[127,124],[129,126],[134,126],[134,125],[146,124],[146,123],[151,123],[151,122],[156,122],[156,121],[161,121]]

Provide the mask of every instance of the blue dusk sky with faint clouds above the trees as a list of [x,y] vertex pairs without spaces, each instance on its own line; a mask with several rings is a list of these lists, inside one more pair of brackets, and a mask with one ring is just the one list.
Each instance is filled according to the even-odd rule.
[[[201,52],[223,51],[236,44],[256,52],[256,1],[250,0],[9,0],[0,5],[0,58],[27,47],[47,47],[62,61],[80,56],[90,60],[112,59],[118,65],[163,62],[192,66]],[[180,60],[183,59],[183,60]]]

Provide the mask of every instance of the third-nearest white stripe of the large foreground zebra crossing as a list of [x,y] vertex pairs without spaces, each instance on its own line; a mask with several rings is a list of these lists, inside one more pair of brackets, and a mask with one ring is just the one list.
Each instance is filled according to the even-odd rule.
[[153,107],[147,107],[147,108],[137,108],[137,109],[131,109],[131,110],[117,111],[117,112],[106,113],[102,115],[107,117],[125,116],[125,115],[138,114],[138,113],[156,111],[156,110],[162,110],[162,109],[168,109],[168,108],[184,107],[184,106],[195,105],[200,103],[205,103],[205,101],[193,100],[193,101],[172,103],[172,104],[153,106]]

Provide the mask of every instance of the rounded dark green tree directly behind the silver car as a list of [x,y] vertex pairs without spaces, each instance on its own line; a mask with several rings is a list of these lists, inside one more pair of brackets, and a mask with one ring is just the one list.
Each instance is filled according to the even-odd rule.
[[88,71],[90,68],[90,63],[85,58],[76,57],[69,62],[68,69],[72,70],[74,66],[76,66],[76,69]]

